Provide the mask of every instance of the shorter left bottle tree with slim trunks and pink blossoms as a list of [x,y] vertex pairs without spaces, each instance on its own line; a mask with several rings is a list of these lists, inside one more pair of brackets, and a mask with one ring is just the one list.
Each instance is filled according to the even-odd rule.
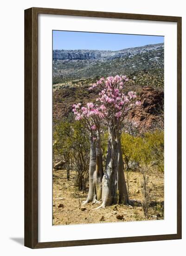
[[89,193],[83,205],[97,202],[102,198],[103,160],[100,136],[100,122],[103,114],[92,103],[81,107],[81,103],[74,104],[72,111],[76,120],[80,120],[89,132],[90,164],[89,164]]

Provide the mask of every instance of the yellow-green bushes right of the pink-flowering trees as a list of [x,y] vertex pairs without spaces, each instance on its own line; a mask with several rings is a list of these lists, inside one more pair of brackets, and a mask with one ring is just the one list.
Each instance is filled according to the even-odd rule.
[[128,167],[129,161],[140,165],[155,165],[159,171],[164,171],[164,132],[145,133],[143,137],[135,137],[122,133],[122,154]]

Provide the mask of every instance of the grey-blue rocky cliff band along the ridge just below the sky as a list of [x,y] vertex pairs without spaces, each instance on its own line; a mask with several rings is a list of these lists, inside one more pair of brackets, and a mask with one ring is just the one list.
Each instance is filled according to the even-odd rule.
[[121,57],[130,57],[148,51],[163,48],[163,44],[134,47],[120,51],[100,50],[53,50],[53,60],[113,60]]

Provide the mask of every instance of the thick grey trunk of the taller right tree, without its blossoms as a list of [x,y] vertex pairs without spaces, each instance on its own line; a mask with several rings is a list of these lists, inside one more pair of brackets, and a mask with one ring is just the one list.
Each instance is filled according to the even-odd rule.
[[120,136],[109,128],[108,152],[105,173],[102,180],[102,205],[112,203],[129,203],[128,191],[125,183],[122,148]]

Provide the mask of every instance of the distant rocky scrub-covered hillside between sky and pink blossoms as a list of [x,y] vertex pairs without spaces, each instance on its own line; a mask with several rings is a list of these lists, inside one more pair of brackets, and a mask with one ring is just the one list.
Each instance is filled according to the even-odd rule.
[[53,84],[127,74],[136,84],[163,87],[164,44],[120,51],[53,50]]

